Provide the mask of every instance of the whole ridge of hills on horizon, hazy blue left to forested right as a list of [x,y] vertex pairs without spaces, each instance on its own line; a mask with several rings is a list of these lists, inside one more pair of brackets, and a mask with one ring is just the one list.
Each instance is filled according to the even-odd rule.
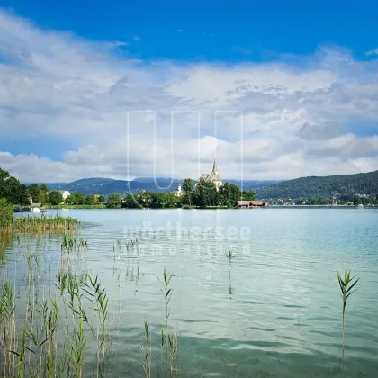
[[[49,190],[67,190],[88,194],[172,192],[183,180],[165,177],[135,177],[133,180],[117,180],[105,177],[82,178],[71,183],[50,183]],[[378,171],[354,175],[305,176],[292,180],[228,180],[223,182],[252,190],[261,199],[277,198],[331,198],[354,194],[378,194]],[[195,181],[193,180],[193,184]]]

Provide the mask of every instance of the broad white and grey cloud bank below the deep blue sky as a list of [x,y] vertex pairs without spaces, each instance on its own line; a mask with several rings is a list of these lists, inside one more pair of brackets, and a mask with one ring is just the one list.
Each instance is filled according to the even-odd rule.
[[0,12],[2,145],[48,138],[51,149],[79,146],[61,149],[59,161],[2,148],[0,166],[24,181],[154,170],[195,177],[214,156],[229,178],[378,169],[378,60],[337,48],[296,58],[148,63],[133,59],[127,42],[40,30]]

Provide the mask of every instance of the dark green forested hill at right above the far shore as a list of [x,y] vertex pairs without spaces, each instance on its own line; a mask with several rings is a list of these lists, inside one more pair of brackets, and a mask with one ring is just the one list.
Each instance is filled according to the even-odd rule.
[[378,171],[356,175],[310,176],[256,189],[258,198],[331,198],[353,194],[378,194]]

